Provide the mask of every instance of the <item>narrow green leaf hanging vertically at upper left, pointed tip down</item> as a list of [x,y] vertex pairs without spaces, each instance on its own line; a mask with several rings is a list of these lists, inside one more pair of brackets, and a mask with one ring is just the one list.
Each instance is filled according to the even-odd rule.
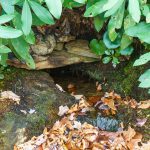
[[22,30],[25,35],[28,35],[31,31],[32,15],[27,0],[25,0],[23,4],[21,21],[22,21]]

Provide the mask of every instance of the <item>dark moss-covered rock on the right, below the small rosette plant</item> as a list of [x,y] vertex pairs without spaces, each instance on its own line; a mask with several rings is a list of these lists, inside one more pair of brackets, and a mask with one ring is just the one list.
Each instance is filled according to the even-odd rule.
[[112,64],[92,63],[71,67],[74,72],[81,72],[100,83],[103,90],[115,90],[124,96],[131,96],[137,100],[150,98],[148,91],[138,87],[138,78],[148,66],[133,67],[133,60],[123,62],[116,68]]

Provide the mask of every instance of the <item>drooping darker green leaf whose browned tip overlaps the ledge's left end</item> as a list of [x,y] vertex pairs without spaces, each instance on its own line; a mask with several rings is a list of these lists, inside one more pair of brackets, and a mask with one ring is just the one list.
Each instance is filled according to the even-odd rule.
[[30,68],[35,69],[34,60],[29,54],[29,44],[23,39],[23,37],[12,39],[11,42],[15,52],[26,62]]

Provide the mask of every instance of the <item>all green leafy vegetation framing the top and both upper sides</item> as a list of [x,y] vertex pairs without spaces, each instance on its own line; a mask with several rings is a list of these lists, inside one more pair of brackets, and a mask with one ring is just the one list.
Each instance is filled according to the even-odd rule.
[[[35,43],[33,26],[53,25],[61,17],[62,8],[85,7],[85,17],[93,17],[97,32],[105,30],[100,39],[93,39],[90,47],[102,57],[103,63],[116,66],[121,55],[130,56],[138,40],[148,49],[150,44],[149,0],[0,0],[0,64],[7,66],[8,54],[30,68],[35,63],[29,53]],[[150,52],[135,61],[134,66],[147,63]],[[150,92],[150,70],[139,78],[140,87]]]

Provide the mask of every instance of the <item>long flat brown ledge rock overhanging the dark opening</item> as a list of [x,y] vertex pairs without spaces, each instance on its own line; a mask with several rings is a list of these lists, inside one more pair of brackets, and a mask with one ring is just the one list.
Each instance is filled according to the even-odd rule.
[[[89,63],[89,62],[95,62],[99,61],[99,59],[96,58],[90,58],[90,57],[84,57],[84,56],[79,56],[76,54],[71,54],[68,53],[65,50],[62,51],[53,51],[46,60],[36,60],[36,70],[40,69],[48,69],[48,68],[58,68],[58,67],[63,67],[71,64],[78,64],[78,63]],[[26,64],[21,63],[17,59],[13,60],[8,60],[7,63],[11,66],[15,66],[17,68],[26,68],[30,69]]]

